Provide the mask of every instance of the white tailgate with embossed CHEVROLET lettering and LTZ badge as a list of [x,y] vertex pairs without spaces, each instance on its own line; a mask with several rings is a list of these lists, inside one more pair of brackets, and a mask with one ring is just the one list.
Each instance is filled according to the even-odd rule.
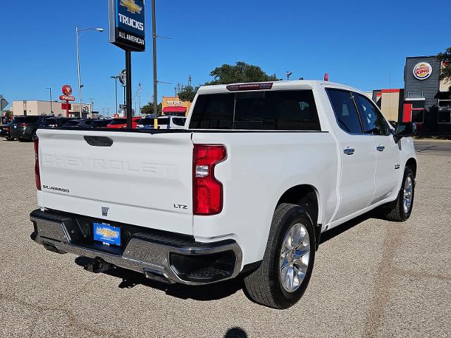
[[[39,207],[192,234],[190,132],[38,130],[37,136]],[[99,146],[106,138],[111,146]]]

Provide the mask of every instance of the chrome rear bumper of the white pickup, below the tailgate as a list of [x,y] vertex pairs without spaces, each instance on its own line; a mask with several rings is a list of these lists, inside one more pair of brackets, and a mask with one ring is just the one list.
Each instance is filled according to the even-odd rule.
[[179,239],[177,234],[136,232],[120,252],[108,252],[109,246],[104,244],[78,241],[84,230],[76,215],[38,209],[30,214],[30,220],[35,227],[31,238],[50,251],[99,259],[159,282],[209,284],[240,273],[242,251],[231,239],[200,243]]

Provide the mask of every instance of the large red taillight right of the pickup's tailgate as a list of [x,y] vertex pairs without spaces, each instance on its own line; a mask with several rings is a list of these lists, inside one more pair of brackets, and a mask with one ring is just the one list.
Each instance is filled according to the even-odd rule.
[[225,146],[194,144],[193,212],[216,215],[223,209],[223,184],[214,177],[214,167],[227,156]]

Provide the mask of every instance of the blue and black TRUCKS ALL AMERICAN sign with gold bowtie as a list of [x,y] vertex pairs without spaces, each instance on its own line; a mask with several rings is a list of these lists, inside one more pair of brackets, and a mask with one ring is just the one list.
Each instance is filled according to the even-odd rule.
[[144,51],[144,27],[144,0],[109,0],[112,44],[129,51]]

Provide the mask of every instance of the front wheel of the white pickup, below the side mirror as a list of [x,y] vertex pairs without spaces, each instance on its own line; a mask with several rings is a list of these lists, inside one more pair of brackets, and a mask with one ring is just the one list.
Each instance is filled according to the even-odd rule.
[[404,177],[397,199],[390,207],[385,208],[385,218],[394,222],[404,222],[410,217],[414,206],[415,177],[408,167],[404,169]]

